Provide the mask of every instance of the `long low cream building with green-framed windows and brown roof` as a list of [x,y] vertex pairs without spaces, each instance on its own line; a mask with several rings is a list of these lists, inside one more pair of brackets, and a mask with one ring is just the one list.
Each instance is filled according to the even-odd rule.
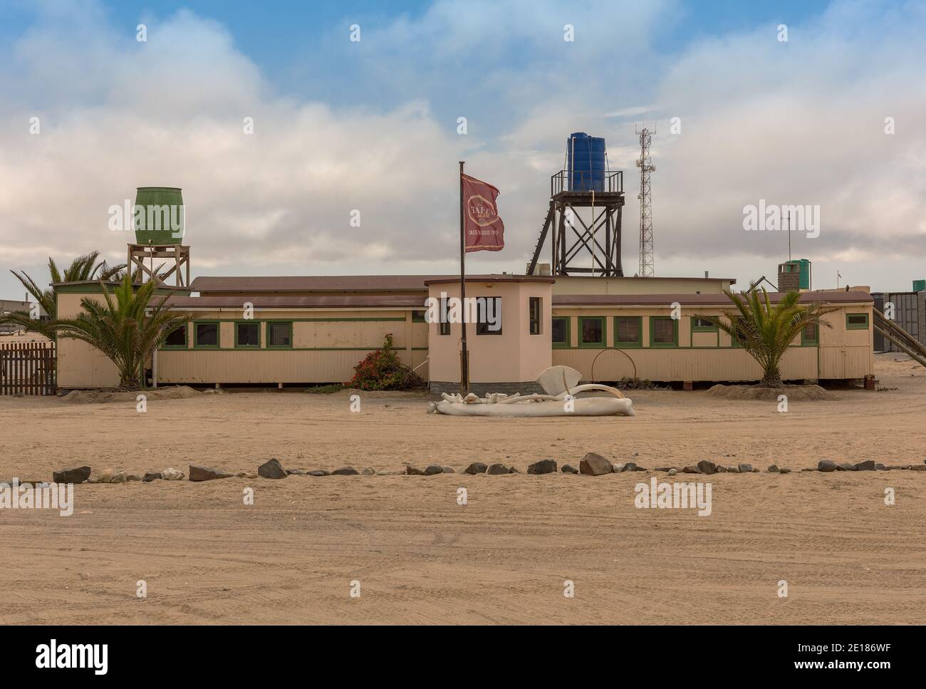
[[[496,311],[497,328],[468,326],[469,381],[482,390],[530,391],[554,364],[583,380],[746,382],[756,361],[701,316],[720,315],[732,280],[475,275],[467,297]],[[102,299],[99,283],[54,285],[58,313]],[[171,332],[150,362],[158,384],[347,382],[391,334],[399,356],[434,391],[457,390],[461,325],[428,322],[426,300],[459,296],[448,275],[200,277],[189,288],[159,288],[194,319]],[[780,294],[772,293],[777,300]],[[448,301],[449,300],[449,301]],[[829,327],[808,328],[782,359],[792,381],[871,381],[872,303],[865,289],[805,292],[831,307]],[[111,387],[119,378],[89,345],[58,344],[58,385]]]

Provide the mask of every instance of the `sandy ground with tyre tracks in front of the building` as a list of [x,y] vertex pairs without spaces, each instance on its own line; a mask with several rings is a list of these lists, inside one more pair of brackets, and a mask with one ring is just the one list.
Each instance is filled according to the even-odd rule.
[[[877,374],[897,389],[835,392],[784,414],[652,391],[632,395],[632,419],[518,422],[427,415],[418,394],[362,394],[360,413],[346,393],[199,395],[152,400],[144,414],[0,397],[0,477],[83,464],[255,471],[269,457],[291,469],[482,460],[523,471],[544,457],[577,466],[586,452],[649,469],[702,458],[762,470],[820,458],[921,464],[926,370],[880,355]],[[653,475],[682,479],[82,484],[71,517],[0,509],[0,622],[926,622],[926,471],[699,477],[712,484],[708,517],[634,507],[634,484]]]

